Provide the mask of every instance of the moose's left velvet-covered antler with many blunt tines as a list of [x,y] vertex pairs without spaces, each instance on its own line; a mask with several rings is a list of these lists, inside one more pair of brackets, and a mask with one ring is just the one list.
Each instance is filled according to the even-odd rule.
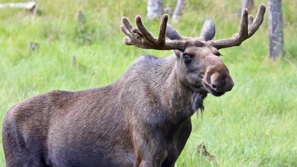
[[131,23],[126,17],[122,18],[124,25],[121,25],[121,31],[127,35],[124,37],[123,42],[126,45],[134,45],[143,49],[156,49],[156,50],[183,50],[186,41],[166,41],[166,26],[168,15],[165,14],[161,18],[159,28],[159,37],[155,38],[143,25],[141,17],[137,15],[135,22],[137,28],[132,28]]

